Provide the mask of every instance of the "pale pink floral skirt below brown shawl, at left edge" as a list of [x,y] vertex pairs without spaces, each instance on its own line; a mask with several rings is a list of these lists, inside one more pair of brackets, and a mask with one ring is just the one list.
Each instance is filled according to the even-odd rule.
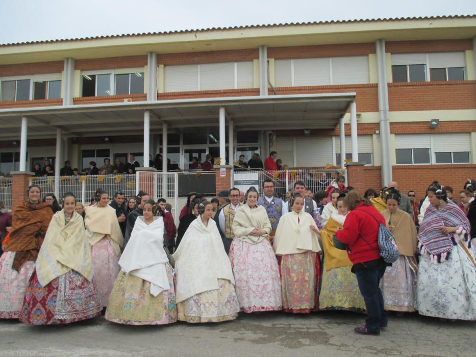
[[12,268],[14,259],[14,251],[6,251],[0,257],[0,319],[20,317],[25,290],[35,270],[35,262],[28,260],[16,271]]

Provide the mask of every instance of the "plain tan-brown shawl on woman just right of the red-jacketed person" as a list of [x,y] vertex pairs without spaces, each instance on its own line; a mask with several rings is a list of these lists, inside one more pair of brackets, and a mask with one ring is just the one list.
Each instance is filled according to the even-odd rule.
[[418,245],[418,234],[413,217],[405,211],[397,210],[392,213],[391,225],[393,225],[394,228],[391,230],[388,224],[390,212],[385,210],[381,213],[385,218],[387,228],[395,237],[400,256],[414,257]]

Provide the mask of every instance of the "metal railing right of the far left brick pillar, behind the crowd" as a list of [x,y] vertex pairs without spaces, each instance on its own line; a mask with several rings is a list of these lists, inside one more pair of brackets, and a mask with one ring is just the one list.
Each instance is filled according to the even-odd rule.
[[[55,177],[31,177],[31,184],[38,185],[42,196],[47,193],[55,193]],[[61,176],[59,180],[58,200],[66,193],[72,192],[78,202],[88,205],[98,188],[103,189],[112,197],[116,191],[122,191],[126,198],[136,195],[136,175],[83,175],[83,176]]]

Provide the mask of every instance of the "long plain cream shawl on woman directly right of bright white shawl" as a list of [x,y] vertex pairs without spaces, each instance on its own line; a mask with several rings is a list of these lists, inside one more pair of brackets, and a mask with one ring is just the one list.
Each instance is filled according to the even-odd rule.
[[213,219],[209,219],[205,226],[198,216],[189,225],[172,257],[175,260],[177,302],[217,290],[218,279],[235,285],[230,259]]

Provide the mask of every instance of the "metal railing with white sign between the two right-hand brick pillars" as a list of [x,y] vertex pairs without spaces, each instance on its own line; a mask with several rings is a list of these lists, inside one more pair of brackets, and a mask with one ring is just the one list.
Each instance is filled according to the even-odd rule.
[[341,168],[291,169],[286,171],[234,170],[234,183],[237,188],[258,186],[261,192],[263,181],[269,179],[274,184],[274,191],[285,197],[292,191],[296,181],[304,181],[306,188],[313,193],[324,191],[337,176],[346,176]]

